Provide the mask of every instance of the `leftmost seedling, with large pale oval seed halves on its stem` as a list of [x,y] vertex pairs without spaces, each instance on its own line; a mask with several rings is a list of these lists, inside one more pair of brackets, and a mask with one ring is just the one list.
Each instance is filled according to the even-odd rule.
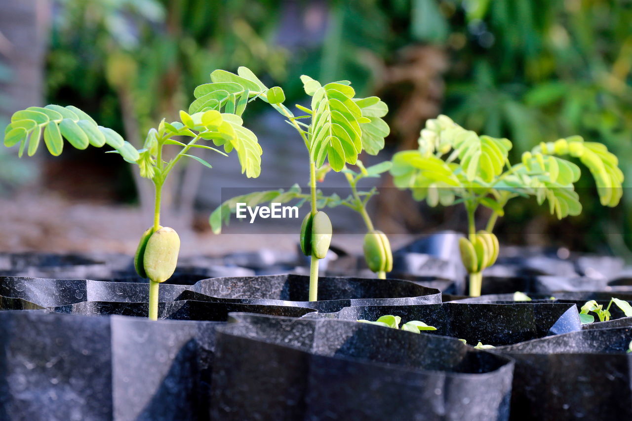
[[[253,82],[241,78],[233,80],[226,75],[231,73],[224,70],[211,73],[212,83],[195,88],[194,95],[198,99],[191,104],[189,113],[180,111],[180,120],[173,123],[162,119],[157,128],[149,130],[140,150],[123,140],[116,131],[97,125],[88,114],[73,106],[51,104],[17,111],[4,134],[4,145],[19,145],[20,157],[25,150],[28,156],[37,152],[42,132],[44,143],[53,156],[61,154],[64,138],[76,149],[108,145],[114,149],[108,152],[116,152],[125,161],[137,164],[140,175],[154,183],[154,224],[141,236],[134,259],[138,274],[149,278],[149,318],[152,320],[158,316],[159,284],[173,275],[178,261],[178,234],[160,224],[162,186],[174,166],[187,157],[211,168],[209,162],[189,154],[191,148],[212,150],[224,156],[234,149],[242,173],[248,177],[257,177],[260,173],[261,147],[254,133],[243,126],[240,116],[250,98],[265,92]],[[183,137],[188,138],[188,142],[182,142]],[[223,146],[224,151],[198,143],[203,140],[212,140],[215,146]],[[179,147],[179,152],[169,161],[163,154],[166,145]]]

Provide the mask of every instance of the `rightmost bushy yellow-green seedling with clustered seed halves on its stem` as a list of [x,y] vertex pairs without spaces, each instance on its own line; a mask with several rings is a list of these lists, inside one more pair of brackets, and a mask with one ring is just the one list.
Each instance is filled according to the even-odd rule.
[[[623,195],[623,172],[617,157],[602,143],[584,142],[573,136],[540,143],[511,165],[507,158],[512,143],[507,139],[478,136],[447,116],[427,121],[417,150],[398,152],[392,159],[391,174],[398,188],[409,188],[416,200],[428,205],[463,203],[468,216],[468,238],[459,243],[461,260],[470,273],[470,295],[480,295],[482,271],[498,257],[498,240],[492,233],[504,207],[514,197],[549,202],[559,219],[581,213],[574,183],[580,168],[560,156],[578,158],[597,183],[600,202],[614,207]],[[475,213],[488,207],[492,214],[484,230],[477,231]]]

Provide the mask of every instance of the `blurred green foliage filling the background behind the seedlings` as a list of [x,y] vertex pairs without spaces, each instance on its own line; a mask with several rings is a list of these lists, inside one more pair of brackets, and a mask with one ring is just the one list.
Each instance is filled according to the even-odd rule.
[[[246,65],[264,82],[283,86],[289,101],[304,97],[295,83],[301,73],[348,79],[361,95],[379,94],[389,104],[392,128],[379,160],[416,147],[425,119],[442,113],[468,129],[511,138],[514,160],[539,142],[569,135],[604,142],[620,159],[624,186],[632,180],[631,0],[44,3],[51,9],[46,102],[76,104],[137,145],[156,116],[175,116],[190,102],[210,71]],[[291,142],[284,133],[271,136],[280,148]],[[47,162],[47,174],[55,174],[44,177],[49,184],[59,180],[61,165]],[[64,169],[69,165],[63,162]],[[92,171],[99,166],[119,180],[116,200],[147,201],[150,192],[130,188],[128,168],[95,154]],[[192,217],[200,203],[201,171],[184,169],[172,186],[183,217]],[[271,172],[264,165],[262,178]],[[604,212],[590,181],[578,185],[585,186],[580,217],[558,222],[516,200],[499,225],[501,240],[592,251],[609,245],[628,254],[621,234],[632,245],[632,195],[624,193],[623,205]],[[385,190],[377,212],[387,232],[465,227],[459,210],[420,209],[412,201],[404,207],[406,197],[392,195],[406,193]]]

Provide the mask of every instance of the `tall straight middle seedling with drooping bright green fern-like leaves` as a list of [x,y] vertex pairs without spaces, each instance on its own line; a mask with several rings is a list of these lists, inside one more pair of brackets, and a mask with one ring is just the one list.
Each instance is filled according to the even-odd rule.
[[[345,164],[355,164],[358,154],[365,150],[375,155],[384,147],[384,137],[389,128],[382,120],[387,107],[378,97],[355,98],[355,90],[351,82],[339,82],[322,85],[309,76],[301,76],[305,92],[312,97],[310,107],[297,105],[304,114],[295,116],[283,105],[285,95],[279,87],[270,88],[258,80],[250,70],[239,68],[238,75],[228,73],[227,80],[246,79],[255,83],[260,90],[257,95],[268,102],[274,109],[286,117],[305,143],[309,155],[310,173],[310,213],[303,219],[300,233],[301,250],[310,256],[310,291],[309,300],[318,299],[318,260],[324,259],[331,243],[331,221],[325,212],[319,211],[316,180],[317,169],[322,168],[325,161],[336,172],[342,171]],[[308,123],[303,122],[308,121]],[[286,192],[263,192],[258,194],[283,195]],[[222,205],[219,214],[214,212],[210,223],[216,228],[221,226],[222,219],[230,216],[230,211],[222,213],[226,207]]]

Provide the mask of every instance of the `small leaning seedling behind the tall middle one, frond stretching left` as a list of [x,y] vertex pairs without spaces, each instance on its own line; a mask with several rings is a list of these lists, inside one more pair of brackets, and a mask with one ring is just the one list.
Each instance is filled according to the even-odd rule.
[[[370,198],[377,194],[377,188],[372,188],[368,192],[362,192],[358,191],[357,185],[358,181],[363,178],[379,177],[380,174],[389,171],[391,168],[391,162],[381,162],[380,164],[365,168],[362,162],[358,159],[358,161],[356,161],[356,166],[360,169],[360,172],[358,173],[348,167],[345,167],[343,171],[341,171],[344,173],[344,176],[349,183],[349,187],[351,188],[351,194],[349,194],[348,197],[343,199],[336,193],[325,196],[322,192],[320,192],[320,190],[317,190],[317,204],[321,209],[324,207],[331,208],[344,205],[358,212],[367,227],[367,234],[365,235],[363,242],[365,261],[367,262],[369,269],[377,274],[377,278],[386,279],[386,272],[390,272],[392,270],[393,259],[391,244],[382,231],[374,229],[373,222],[367,212],[367,203]],[[328,164],[325,164],[317,171],[317,180],[323,181],[325,174],[330,170],[331,167]],[[303,193],[298,185],[292,186],[288,190],[267,190],[264,192],[255,192],[233,197],[226,200],[213,211],[210,216],[210,224],[215,233],[221,232],[222,223],[228,225],[230,216],[236,212],[237,204],[239,203],[246,203],[253,207],[262,203],[274,202],[281,204],[298,200],[298,202],[296,202],[296,207],[301,207],[309,198],[310,195]]]

